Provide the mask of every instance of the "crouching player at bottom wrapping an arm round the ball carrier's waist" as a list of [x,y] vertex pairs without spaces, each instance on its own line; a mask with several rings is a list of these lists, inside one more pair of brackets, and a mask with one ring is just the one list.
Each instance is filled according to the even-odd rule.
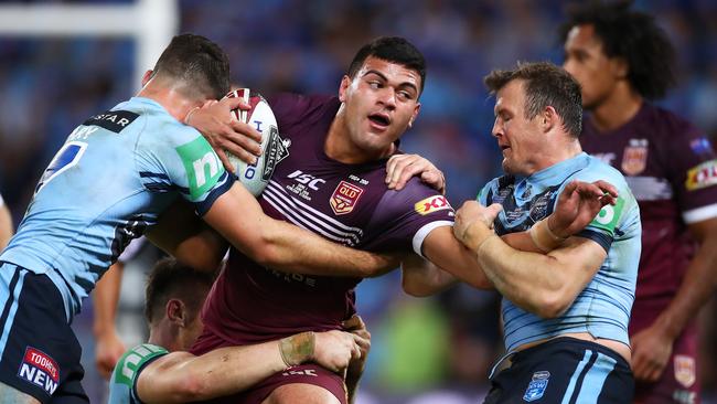
[[[301,332],[255,345],[195,357],[186,349],[202,331],[200,308],[215,274],[172,258],[160,261],[147,283],[148,343],[127,351],[113,372],[109,403],[181,403],[237,393],[290,366],[317,362],[334,372],[358,363],[371,344],[361,318],[352,332]],[[351,322],[352,325],[349,325]],[[362,368],[362,366],[352,366]],[[351,386],[350,386],[351,389]]]

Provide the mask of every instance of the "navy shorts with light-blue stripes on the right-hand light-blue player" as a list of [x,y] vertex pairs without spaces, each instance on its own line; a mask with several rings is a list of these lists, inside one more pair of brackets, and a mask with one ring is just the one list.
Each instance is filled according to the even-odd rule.
[[513,355],[491,381],[484,403],[632,403],[628,362],[595,342],[556,338]]

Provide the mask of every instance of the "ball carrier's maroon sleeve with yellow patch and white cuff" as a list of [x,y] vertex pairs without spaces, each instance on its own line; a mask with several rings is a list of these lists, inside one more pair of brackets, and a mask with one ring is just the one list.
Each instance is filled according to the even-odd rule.
[[374,251],[414,251],[436,227],[453,225],[456,213],[446,196],[414,178],[402,191],[387,191],[368,225]]

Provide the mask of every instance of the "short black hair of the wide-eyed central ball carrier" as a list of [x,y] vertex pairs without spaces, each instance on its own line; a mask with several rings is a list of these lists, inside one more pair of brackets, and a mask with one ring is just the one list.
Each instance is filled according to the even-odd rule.
[[375,40],[363,45],[353,57],[349,66],[349,77],[356,77],[356,73],[368,56],[381,59],[382,61],[397,63],[406,68],[416,71],[420,76],[420,92],[426,86],[426,59],[420,51],[400,36],[378,36]]

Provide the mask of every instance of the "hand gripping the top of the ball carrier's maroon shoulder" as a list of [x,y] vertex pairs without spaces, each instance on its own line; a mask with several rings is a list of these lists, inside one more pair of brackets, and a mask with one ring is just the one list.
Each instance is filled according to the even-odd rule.
[[419,155],[394,155],[386,163],[386,184],[400,191],[408,180],[419,176],[428,187],[446,194],[446,177],[432,162]]

